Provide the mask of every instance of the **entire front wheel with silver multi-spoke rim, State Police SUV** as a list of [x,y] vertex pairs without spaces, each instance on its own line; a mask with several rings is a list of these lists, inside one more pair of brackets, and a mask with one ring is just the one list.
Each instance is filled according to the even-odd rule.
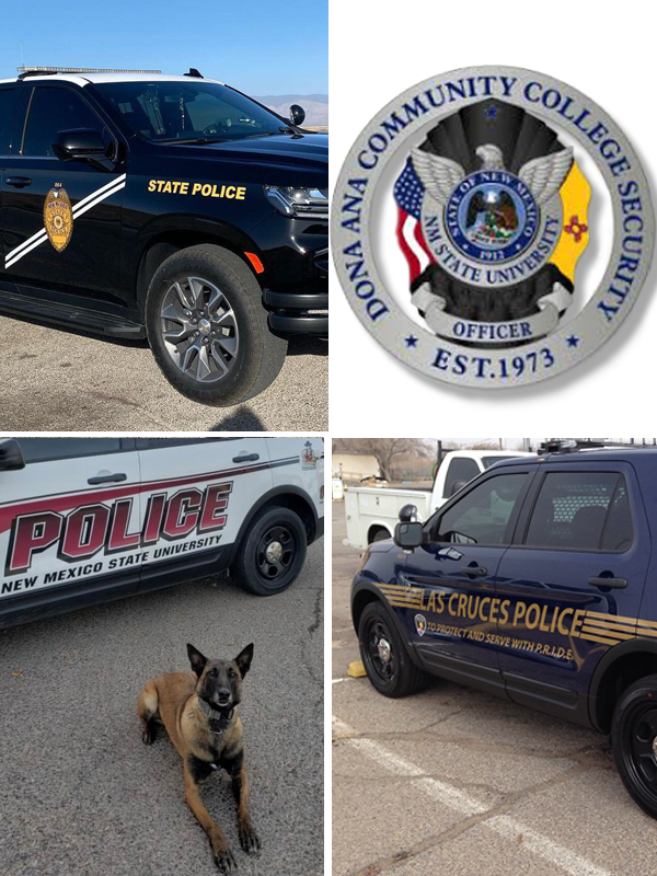
[[287,341],[269,331],[251,269],[214,244],[181,250],[160,265],[146,299],[146,328],[169,382],[219,407],[265,390],[287,353]]

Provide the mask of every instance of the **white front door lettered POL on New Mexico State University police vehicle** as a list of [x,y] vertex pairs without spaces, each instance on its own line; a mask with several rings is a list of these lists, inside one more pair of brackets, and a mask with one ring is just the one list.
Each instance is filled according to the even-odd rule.
[[16,440],[25,468],[0,471],[0,599],[127,568],[138,580],[134,439]]

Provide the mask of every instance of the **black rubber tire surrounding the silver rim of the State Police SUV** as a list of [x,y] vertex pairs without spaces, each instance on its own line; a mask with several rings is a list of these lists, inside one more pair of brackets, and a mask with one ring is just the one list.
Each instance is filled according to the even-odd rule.
[[[215,382],[181,370],[164,342],[161,311],[165,296],[174,283],[187,277],[214,284],[234,314],[237,353],[228,357],[228,373]],[[263,392],[278,376],[287,353],[287,341],[269,331],[262,290],[250,268],[234,253],[209,243],[170,255],[155,270],[146,299],[146,328],[155,361],[169,382],[187,399],[217,407],[239,404]]]

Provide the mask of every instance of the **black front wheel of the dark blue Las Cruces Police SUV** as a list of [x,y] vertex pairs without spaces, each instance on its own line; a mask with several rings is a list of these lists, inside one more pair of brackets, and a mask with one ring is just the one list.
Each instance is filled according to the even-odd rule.
[[[370,602],[362,610],[358,641],[365,671],[379,693],[396,700],[416,693],[426,684],[426,673],[412,662],[394,621],[380,602]],[[381,642],[385,645],[382,650]],[[385,660],[381,654],[388,646],[390,657]]]

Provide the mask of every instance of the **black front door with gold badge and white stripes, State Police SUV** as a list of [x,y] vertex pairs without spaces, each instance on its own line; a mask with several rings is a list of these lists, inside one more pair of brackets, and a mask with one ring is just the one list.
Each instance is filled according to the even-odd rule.
[[116,293],[125,166],[61,161],[53,143],[59,131],[80,128],[97,131],[110,152],[117,141],[81,89],[27,80],[19,91],[2,173],[5,276],[79,295]]

